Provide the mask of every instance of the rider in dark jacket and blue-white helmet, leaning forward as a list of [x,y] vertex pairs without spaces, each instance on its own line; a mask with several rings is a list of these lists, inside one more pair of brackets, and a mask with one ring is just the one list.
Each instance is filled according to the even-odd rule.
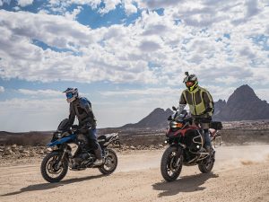
[[91,145],[97,158],[93,164],[99,166],[103,163],[103,160],[101,148],[96,137],[96,119],[91,109],[91,102],[84,97],[80,97],[77,88],[67,88],[65,95],[66,101],[70,103],[70,126],[74,124],[76,117],[79,121],[79,126],[87,128],[84,135],[88,138],[89,145]]

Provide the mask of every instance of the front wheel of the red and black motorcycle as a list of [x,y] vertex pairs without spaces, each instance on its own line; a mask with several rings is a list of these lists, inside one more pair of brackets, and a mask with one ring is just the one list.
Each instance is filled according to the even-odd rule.
[[[179,154],[180,153],[180,154]],[[164,180],[177,180],[182,170],[182,149],[169,146],[161,157],[161,175]]]

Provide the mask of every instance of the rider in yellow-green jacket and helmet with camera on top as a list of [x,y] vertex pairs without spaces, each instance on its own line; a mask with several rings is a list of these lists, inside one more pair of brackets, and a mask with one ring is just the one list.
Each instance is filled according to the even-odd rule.
[[208,129],[214,111],[213,98],[210,92],[198,85],[196,75],[189,75],[188,72],[185,75],[183,83],[186,84],[187,89],[181,93],[178,110],[181,112],[188,104],[195,123],[200,123],[204,130],[204,148],[211,154],[212,145]]

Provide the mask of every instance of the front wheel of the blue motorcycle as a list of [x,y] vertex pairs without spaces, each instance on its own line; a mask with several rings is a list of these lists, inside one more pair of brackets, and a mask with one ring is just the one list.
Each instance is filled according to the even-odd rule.
[[65,177],[68,171],[68,162],[66,158],[60,162],[61,156],[60,152],[51,152],[41,162],[42,177],[48,182],[58,182]]

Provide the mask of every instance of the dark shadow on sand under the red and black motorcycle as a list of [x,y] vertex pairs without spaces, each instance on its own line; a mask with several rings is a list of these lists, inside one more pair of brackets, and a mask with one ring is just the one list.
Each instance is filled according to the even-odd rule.
[[190,175],[182,177],[179,180],[167,182],[162,181],[152,185],[153,189],[161,190],[158,195],[159,198],[177,195],[180,192],[193,192],[197,190],[204,190],[202,185],[211,178],[218,178],[219,175],[213,173],[200,173],[197,175]]

